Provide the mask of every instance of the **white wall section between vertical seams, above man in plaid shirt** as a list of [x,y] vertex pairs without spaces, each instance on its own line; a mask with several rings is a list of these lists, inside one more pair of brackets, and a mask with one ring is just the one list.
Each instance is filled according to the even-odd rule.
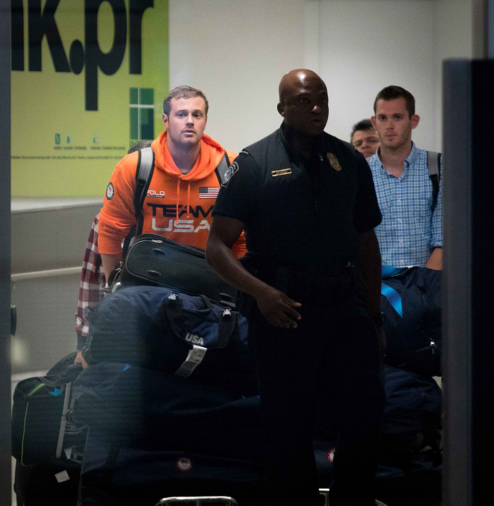
[[348,140],[353,123],[370,117],[376,94],[407,89],[421,120],[413,132],[433,149],[434,2],[327,0],[319,3],[319,71],[330,97],[327,130]]

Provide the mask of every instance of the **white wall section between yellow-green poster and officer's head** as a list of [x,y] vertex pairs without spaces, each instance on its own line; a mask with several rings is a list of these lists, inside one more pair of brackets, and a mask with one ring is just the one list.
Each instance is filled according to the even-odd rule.
[[282,75],[303,66],[303,1],[169,0],[170,88],[200,88],[206,134],[239,151],[281,124]]

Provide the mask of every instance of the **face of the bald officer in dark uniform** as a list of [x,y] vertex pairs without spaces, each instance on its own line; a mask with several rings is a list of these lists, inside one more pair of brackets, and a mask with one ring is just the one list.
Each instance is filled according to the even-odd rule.
[[317,75],[298,74],[278,111],[297,133],[307,137],[322,134],[329,115],[326,85]]

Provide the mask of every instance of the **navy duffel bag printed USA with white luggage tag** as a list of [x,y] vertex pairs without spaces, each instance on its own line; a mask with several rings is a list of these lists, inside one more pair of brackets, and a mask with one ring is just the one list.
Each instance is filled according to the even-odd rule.
[[88,363],[129,363],[256,393],[247,320],[230,307],[166,287],[131,286],[108,294],[88,319]]

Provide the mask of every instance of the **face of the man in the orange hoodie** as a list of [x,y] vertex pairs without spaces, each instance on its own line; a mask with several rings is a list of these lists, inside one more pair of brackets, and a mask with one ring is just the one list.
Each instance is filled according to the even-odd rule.
[[172,98],[170,114],[163,114],[169,142],[182,147],[198,144],[206,126],[206,104],[201,97]]

